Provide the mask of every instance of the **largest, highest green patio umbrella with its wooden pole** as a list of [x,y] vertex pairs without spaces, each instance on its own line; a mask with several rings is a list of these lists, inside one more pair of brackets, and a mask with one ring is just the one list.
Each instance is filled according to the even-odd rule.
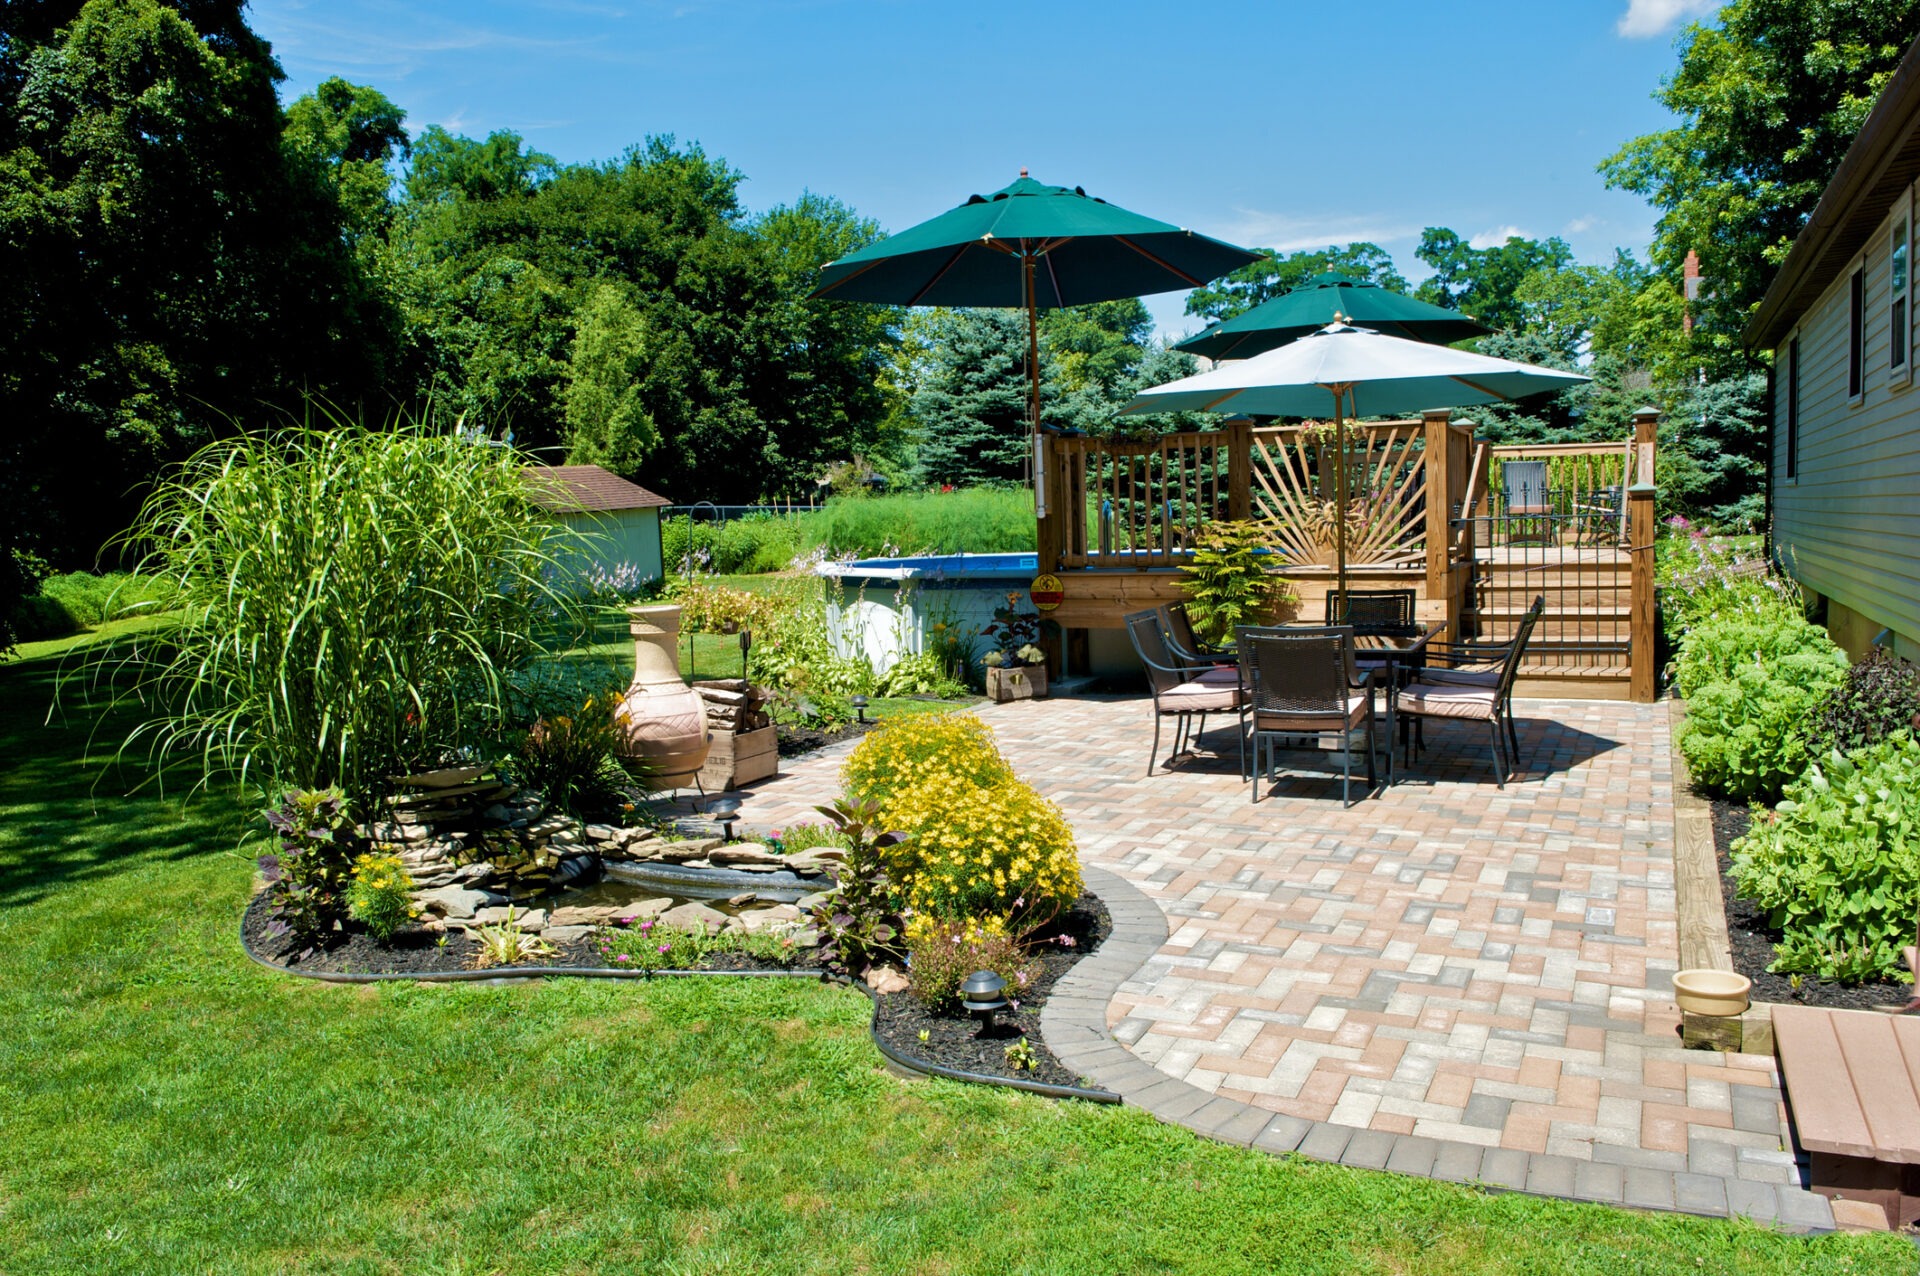
[[1027,311],[1027,413],[1041,428],[1039,311],[1198,288],[1260,253],[1129,213],[1079,186],[1020,180],[820,269],[812,295]]

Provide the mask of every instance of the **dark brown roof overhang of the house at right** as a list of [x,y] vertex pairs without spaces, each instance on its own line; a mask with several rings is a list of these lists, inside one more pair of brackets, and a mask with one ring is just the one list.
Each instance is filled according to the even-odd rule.
[[1793,238],[1741,340],[1772,349],[1853,265],[1874,228],[1920,178],[1920,38],[1907,46],[1859,136],[1826,184],[1812,217]]

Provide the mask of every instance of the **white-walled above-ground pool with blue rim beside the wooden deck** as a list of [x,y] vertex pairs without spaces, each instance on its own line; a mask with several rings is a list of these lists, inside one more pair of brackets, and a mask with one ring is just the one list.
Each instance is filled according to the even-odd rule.
[[[1027,585],[1039,574],[1039,555],[922,555],[918,558],[858,558],[822,562],[828,589],[828,631],[841,656],[864,656],[885,673],[900,656],[920,654],[935,626],[977,633],[993,624],[993,608],[1018,593],[1018,610],[1033,610]],[[981,643],[983,654],[991,643]]]

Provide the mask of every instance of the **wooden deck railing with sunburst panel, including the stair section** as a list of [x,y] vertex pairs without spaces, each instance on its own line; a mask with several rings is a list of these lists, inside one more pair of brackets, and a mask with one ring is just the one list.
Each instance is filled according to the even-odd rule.
[[[1344,520],[1348,566],[1423,574],[1452,633],[1484,622],[1496,633],[1482,637],[1498,637],[1501,618],[1524,610],[1507,595],[1553,593],[1563,624],[1544,641],[1596,668],[1630,664],[1634,698],[1651,700],[1655,420],[1636,414],[1622,441],[1500,447],[1450,413],[1338,432],[1233,420],[1142,441],[1046,437],[1041,570],[1171,568],[1206,524],[1258,518],[1284,570],[1317,578],[1332,572]],[[1334,495],[1342,449],[1346,508]],[[1622,564],[1624,612],[1607,576]]]

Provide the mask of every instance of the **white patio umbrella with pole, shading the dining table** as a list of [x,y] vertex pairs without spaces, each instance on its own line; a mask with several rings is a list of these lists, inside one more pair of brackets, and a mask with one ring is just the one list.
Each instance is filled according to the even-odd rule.
[[1407,342],[1369,328],[1327,324],[1290,345],[1212,372],[1142,390],[1129,413],[1235,413],[1242,416],[1325,416],[1334,439],[1334,564],[1346,601],[1346,439],[1342,416],[1390,416],[1436,407],[1473,407],[1567,390],[1590,378],[1490,359],[1448,345]]

